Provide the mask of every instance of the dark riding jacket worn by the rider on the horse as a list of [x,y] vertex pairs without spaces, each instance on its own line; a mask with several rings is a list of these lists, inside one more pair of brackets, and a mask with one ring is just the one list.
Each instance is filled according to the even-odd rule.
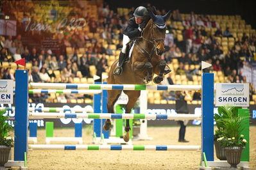
[[128,26],[124,28],[124,35],[127,35],[130,39],[137,38],[141,35],[141,31],[138,29],[139,25],[135,22],[135,17],[132,17],[128,21]]

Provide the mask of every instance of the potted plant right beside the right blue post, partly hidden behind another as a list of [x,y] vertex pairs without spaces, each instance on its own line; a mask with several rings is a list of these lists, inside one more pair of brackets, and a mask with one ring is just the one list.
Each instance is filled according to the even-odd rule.
[[214,114],[214,120],[216,121],[217,129],[215,130],[214,134],[214,146],[216,151],[216,157],[219,158],[219,160],[226,160],[225,150],[224,146],[221,146],[219,141],[220,137],[223,137],[224,135],[224,125],[223,121],[224,119],[230,119],[232,117],[238,116],[238,109],[241,109],[241,107],[229,107],[229,106],[221,106],[218,107],[218,113]]

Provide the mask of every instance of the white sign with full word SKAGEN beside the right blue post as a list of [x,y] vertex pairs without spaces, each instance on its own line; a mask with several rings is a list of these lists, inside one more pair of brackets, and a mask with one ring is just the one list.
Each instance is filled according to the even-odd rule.
[[248,83],[216,83],[216,106],[249,107]]

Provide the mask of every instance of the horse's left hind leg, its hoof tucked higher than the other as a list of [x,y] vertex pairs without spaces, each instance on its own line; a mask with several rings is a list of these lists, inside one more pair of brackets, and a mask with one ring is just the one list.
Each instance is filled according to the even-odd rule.
[[[114,113],[114,104],[121,95],[121,90],[108,90],[108,113]],[[110,129],[111,121],[107,119],[103,125],[103,129],[108,131]]]

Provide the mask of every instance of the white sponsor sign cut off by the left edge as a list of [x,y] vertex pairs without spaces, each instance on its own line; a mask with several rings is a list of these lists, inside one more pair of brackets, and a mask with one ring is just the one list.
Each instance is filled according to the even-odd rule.
[[12,80],[0,80],[0,104],[13,104]]

